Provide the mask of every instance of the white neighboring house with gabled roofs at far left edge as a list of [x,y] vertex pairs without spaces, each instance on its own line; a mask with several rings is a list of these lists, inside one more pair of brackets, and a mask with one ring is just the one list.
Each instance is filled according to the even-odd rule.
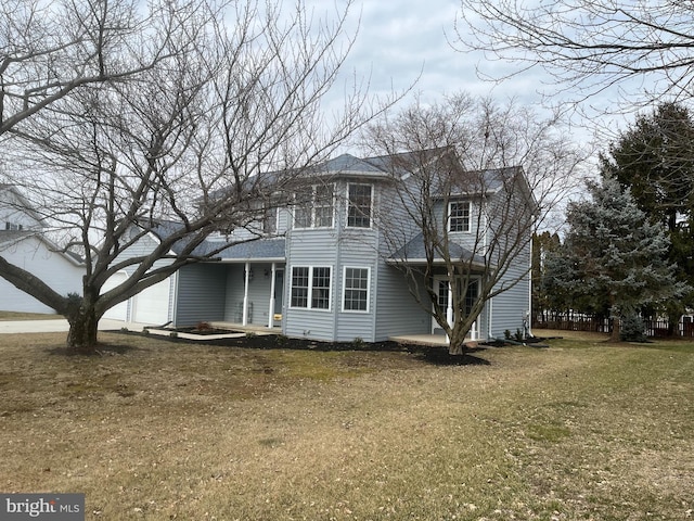
[[[74,255],[57,251],[46,237],[40,216],[10,185],[0,185],[0,256],[36,275],[60,294],[81,294],[83,264]],[[0,278],[0,309],[55,313],[3,278]]]

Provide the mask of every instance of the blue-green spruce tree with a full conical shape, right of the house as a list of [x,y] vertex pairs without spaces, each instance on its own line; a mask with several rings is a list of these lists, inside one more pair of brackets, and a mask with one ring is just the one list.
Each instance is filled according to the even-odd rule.
[[561,267],[552,270],[552,282],[568,292],[574,308],[600,313],[607,307],[612,340],[619,341],[621,319],[677,298],[687,288],[667,260],[670,241],[663,227],[648,220],[617,179],[604,176],[588,190],[592,201],[567,209],[569,231],[551,259]]

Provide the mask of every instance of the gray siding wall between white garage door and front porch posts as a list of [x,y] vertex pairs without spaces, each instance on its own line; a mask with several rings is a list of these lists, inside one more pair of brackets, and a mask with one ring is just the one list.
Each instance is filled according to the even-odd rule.
[[227,269],[219,264],[201,263],[178,272],[176,326],[223,320]]

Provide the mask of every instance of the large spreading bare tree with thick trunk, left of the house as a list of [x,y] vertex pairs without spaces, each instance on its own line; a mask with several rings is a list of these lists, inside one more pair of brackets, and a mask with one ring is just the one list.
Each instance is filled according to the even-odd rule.
[[[99,48],[98,61],[138,73],[69,84],[70,96],[12,128],[17,153],[4,157],[64,250],[85,256],[86,276],[72,297],[2,257],[0,276],[65,315],[68,347],[80,353],[94,351],[108,308],[228,247],[204,241],[253,228],[268,209],[258,201],[288,204],[284,189],[378,113],[359,86],[334,120],[320,111],[351,46],[349,5],[335,23],[316,22],[300,1],[288,15],[281,2],[167,0],[144,17],[138,2],[119,5],[127,27],[144,27]],[[68,58],[60,71],[80,67]],[[156,246],[138,251],[146,237]],[[123,269],[127,280],[103,292]]]

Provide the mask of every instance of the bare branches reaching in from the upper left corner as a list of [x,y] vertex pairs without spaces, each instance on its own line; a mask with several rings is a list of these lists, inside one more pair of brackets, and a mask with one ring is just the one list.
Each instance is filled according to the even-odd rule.
[[162,7],[138,16],[132,0],[3,1],[0,135],[81,86],[123,80],[169,58],[163,36],[172,33],[174,13]]

